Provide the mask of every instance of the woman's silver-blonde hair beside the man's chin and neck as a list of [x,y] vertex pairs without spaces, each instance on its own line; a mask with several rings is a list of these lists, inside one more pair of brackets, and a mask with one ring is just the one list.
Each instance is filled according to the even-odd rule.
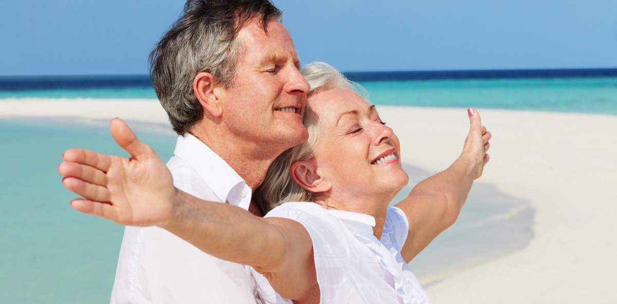
[[[343,88],[357,92],[368,101],[368,94],[360,84],[348,80],[336,68],[325,62],[312,62],[306,65],[302,68],[302,75],[310,84],[308,98],[326,89]],[[277,157],[270,165],[270,168],[268,168],[262,185],[255,189],[253,197],[264,214],[282,203],[312,202],[314,195],[316,195],[296,184],[291,178],[289,171],[293,163],[313,157],[313,152],[319,141],[321,128],[318,115],[313,112],[308,102],[304,112],[303,123],[307,131],[309,131],[309,139],[286,150]]]

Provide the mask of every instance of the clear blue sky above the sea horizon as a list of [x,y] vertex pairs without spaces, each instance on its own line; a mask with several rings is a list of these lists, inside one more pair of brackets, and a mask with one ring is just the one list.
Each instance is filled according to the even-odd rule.
[[[274,0],[344,71],[617,68],[615,0]],[[2,1],[0,75],[146,74],[181,0]]]

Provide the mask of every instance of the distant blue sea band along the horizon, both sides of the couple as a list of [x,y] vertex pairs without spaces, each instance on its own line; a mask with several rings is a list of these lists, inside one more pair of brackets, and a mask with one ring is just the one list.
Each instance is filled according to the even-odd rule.
[[[602,76],[596,76],[602,75]],[[617,115],[617,69],[349,73],[376,105]],[[0,99],[156,99],[147,76],[0,77]]]

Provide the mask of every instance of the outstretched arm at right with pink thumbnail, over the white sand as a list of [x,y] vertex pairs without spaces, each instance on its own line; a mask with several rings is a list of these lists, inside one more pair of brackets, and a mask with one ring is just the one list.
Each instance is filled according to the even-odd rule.
[[457,220],[471,184],[482,175],[489,161],[486,152],[491,133],[482,126],[475,109],[468,109],[468,115],[470,130],[457,160],[446,170],[418,183],[407,198],[395,205],[409,221],[409,233],[401,250],[407,262]]

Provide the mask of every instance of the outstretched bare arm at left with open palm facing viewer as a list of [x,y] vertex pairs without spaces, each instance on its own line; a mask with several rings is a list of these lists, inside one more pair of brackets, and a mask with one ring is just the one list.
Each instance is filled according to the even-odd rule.
[[279,294],[300,300],[317,284],[312,240],[302,224],[259,218],[176,189],[167,166],[120,119],[110,123],[131,158],[69,149],[58,172],[81,195],[71,206],[128,226],[159,226],[214,257],[254,266]]

